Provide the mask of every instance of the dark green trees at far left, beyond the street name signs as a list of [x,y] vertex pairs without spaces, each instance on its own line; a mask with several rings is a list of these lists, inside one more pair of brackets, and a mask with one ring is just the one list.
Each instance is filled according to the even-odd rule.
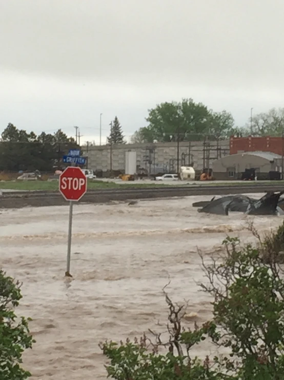
[[51,171],[69,149],[77,147],[74,139],[61,130],[56,133],[27,133],[9,123],[0,142],[0,170]]

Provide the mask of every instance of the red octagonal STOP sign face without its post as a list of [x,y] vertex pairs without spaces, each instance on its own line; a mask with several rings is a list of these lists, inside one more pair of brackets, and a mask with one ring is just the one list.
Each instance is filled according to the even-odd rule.
[[66,201],[79,201],[87,191],[87,177],[80,168],[69,166],[60,174],[59,191]]

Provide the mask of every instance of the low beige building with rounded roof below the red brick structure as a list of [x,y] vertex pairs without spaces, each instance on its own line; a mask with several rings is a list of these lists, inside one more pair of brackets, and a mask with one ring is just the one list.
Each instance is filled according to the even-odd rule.
[[[270,171],[281,171],[281,159],[268,159],[250,154],[234,154],[222,157],[213,162],[213,175],[216,179],[238,179],[245,169],[255,168],[258,174],[268,174]],[[232,176],[232,172],[235,173]]]

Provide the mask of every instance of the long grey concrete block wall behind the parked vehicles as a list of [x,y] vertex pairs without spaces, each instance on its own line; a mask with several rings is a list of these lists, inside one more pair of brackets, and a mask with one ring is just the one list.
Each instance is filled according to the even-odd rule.
[[[185,165],[194,162],[195,170],[202,170],[207,167],[212,168],[212,162],[217,157],[229,154],[229,140],[210,141],[204,148],[203,141],[191,141],[179,143],[179,166],[182,165],[182,154],[186,154]],[[153,149],[152,152],[149,149]],[[110,146],[82,147],[84,156],[88,157],[88,168],[95,171],[110,170]],[[136,152],[136,165],[145,168],[151,174],[157,172],[176,171],[177,143],[154,143],[154,144],[116,144],[112,148],[112,170],[125,172],[125,156],[127,151]],[[205,159],[204,159],[205,157]],[[149,159],[152,164],[149,164]],[[174,160],[174,161],[172,161]]]

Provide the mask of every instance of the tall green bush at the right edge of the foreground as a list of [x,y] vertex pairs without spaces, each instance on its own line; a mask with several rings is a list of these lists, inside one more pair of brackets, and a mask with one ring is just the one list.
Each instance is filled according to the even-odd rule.
[[[275,262],[263,263],[261,251],[228,238],[226,256],[206,273],[214,296],[211,338],[231,349],[227,366],[241,379],[282,379],[284,371],[284,281]],[[223,290],[217,283],[226,284]],[[239,365],[236,365],[238,361]],[[237,377],[238,378],[238,377]]]

